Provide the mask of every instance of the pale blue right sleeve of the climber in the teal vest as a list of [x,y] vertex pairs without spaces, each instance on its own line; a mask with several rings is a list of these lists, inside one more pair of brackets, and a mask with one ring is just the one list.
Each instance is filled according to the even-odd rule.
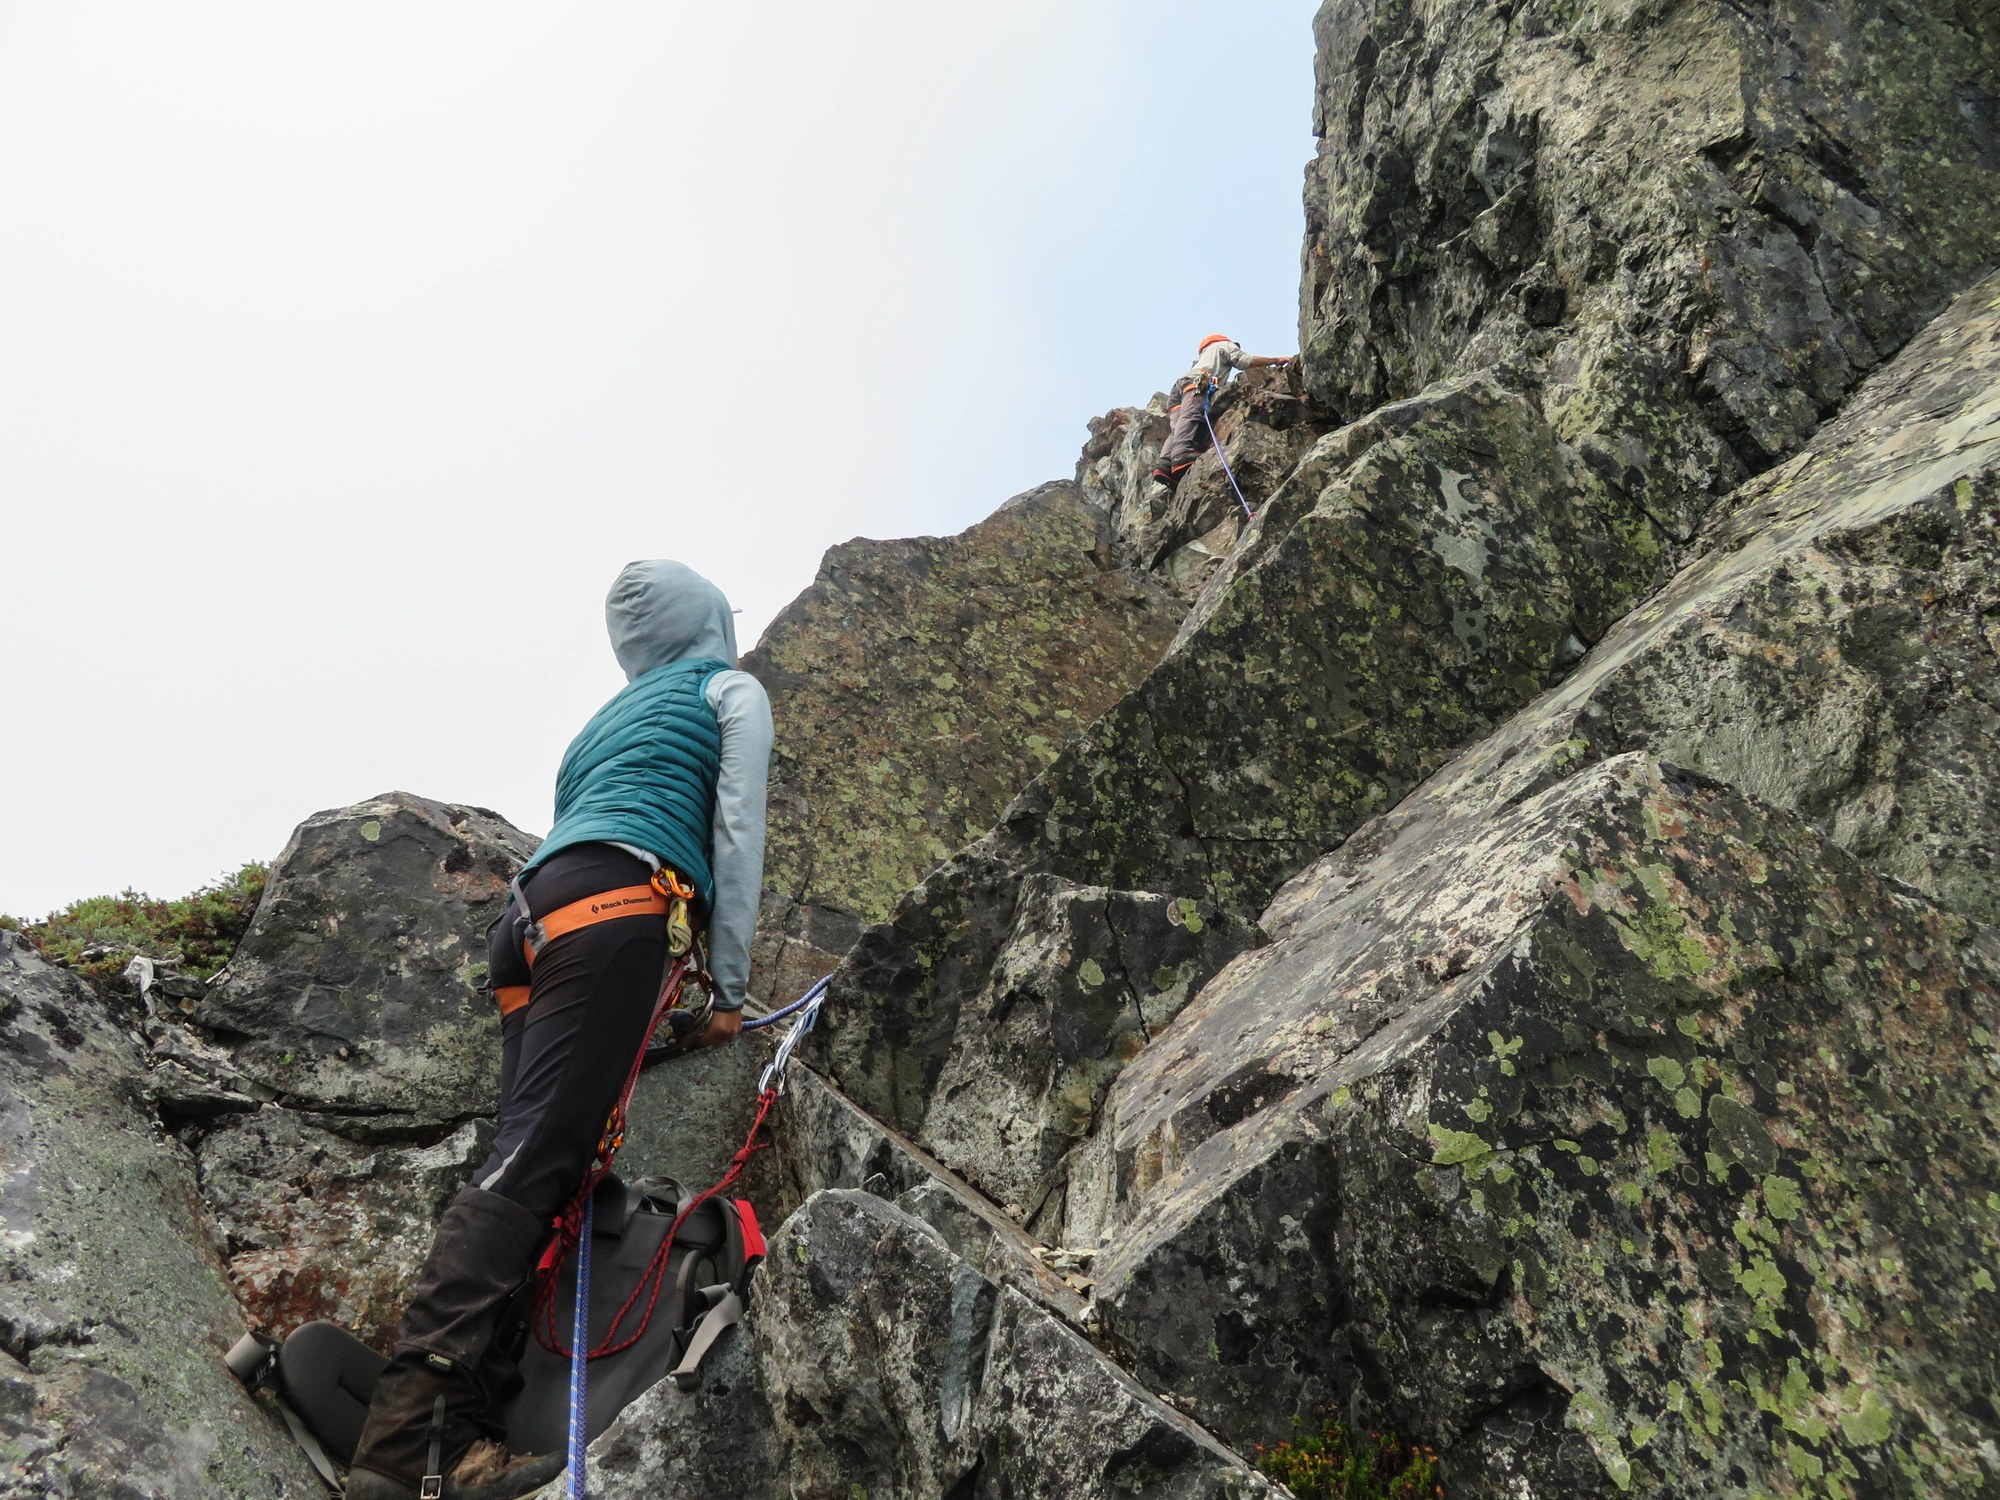
[[764,784],[770,778],[770,698],[748,672],[716,672],[708,706],[722,726],[716,776],[716,902],[708,914],[708,972],[716,1006],[736,1010],[750,986],[750,936],[764,898]]

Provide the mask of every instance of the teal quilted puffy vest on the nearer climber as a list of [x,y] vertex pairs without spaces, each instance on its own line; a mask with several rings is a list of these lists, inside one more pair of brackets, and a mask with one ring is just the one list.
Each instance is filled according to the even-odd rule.
[[562,752],[556,826],[522,874],[572,844],[632,844],[658,854],[714,902],[710,868],[722,726],[704,696],[728,662],[668,662],[634,678]]

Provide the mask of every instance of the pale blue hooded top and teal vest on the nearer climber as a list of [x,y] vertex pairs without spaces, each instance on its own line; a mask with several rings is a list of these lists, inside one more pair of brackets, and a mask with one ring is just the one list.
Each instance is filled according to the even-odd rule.
[[604,600],[626,686],[556,772],[556,826],[528,870],[574,844],[620,844],[686,876],[708,914],[716,1004],[750,980],[764,888],[770,700],[736,664],[722,590],[680,562],[634,562]]

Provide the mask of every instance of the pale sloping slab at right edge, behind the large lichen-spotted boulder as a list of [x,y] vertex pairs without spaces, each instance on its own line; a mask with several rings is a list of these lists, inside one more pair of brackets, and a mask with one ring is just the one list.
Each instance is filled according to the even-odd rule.
[[1438,796],[1502,806],[1652,748],[2000,922],[1996,622],[2000,276],[1732,496],[1704,554]]

